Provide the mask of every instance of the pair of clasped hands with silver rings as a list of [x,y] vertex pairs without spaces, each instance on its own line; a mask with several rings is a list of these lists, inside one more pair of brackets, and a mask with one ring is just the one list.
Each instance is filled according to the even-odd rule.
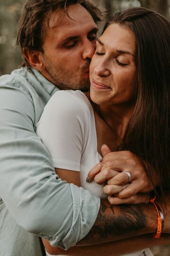
[[[153,184],[136,155],[130,151],[110,152],[106,145],[102,145],[102,155],[102,162],[88,174],[89,182],[93,179],[98,184],[107,181],[103,191],[109,194],[111,204],[148,203]],[[130,183],[125,171],[131,175]]]

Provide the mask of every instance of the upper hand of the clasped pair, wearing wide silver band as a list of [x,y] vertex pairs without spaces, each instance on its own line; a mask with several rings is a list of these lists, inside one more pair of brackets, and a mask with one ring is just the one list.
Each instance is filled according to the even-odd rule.
[[[104,150],[109,151],[109,148],[103,146]],[[129,151],[110,152],[104,155],[102,163],[95,165],[88,174],[87,181],[91,182],[93,179],[99,184],[107,181],[108,185],[123,185],[130,181],[128,188],[119,192],[120,199],[131,197],[138,192],[147,193],[153,190],[153,184],[140,160]]]

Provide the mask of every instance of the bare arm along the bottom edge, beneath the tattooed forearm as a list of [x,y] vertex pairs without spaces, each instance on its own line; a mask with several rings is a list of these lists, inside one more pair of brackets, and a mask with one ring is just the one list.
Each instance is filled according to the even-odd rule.
[[127,238],[116,242],[110,242],[105,244],[86,246],[86,247],[74,247],[65,251],[60,248],[50,247],[46,243],[46,249],[51,255],[69,255],[69,256],[119,256],[122,254],[132,253],[138,250],[142,250],[147,247],[163,246],[170,244],[170,235],[162,235],[161,238],[155,239],[153,235],[147,234],[134,238]]

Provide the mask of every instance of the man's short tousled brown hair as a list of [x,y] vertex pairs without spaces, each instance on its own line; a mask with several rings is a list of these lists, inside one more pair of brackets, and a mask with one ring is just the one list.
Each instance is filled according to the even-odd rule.
[[[87,9],[95,23],[102,20],[102,11],[88,0],[26,0],[19,19],[16,45],[20,45],[22,51],[27,48],[43,52],[43,38],[46,28],[49,27],[51,13],[61,10],[60,20],[65,14],[68,15],[68,7],[74,4],[80,4]],[[29,66],[25,59],[22,66],[26,65]]]

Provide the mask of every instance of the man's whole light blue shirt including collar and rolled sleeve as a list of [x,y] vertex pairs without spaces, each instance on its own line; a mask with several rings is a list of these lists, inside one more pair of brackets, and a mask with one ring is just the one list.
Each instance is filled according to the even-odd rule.
[[0,256],[41,256],[38,236],[68,249],[97,217],[100,199],[61,181],[36,135],[57,90],[34,69],[0,77]]

